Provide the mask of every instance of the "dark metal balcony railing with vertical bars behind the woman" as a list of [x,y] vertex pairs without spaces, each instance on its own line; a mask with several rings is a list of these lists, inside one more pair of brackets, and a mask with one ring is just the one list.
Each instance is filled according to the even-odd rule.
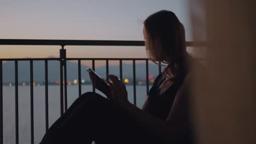
[[[81,61],[90,60],[92,70],[95,70],[95,61],[106,61],[106,74],[109,74],[109,61],[119,61],[120,79],[123,81],[123,61],[132,61],[133,73],[133,104],[136,105],[136,61],[146,62],[146,87],[149,92],[149,63],[147,58],[67,58],[65,46],[144,46],[144,41],[117,41],[117,40],[23,40],[23,39],[0,39],[0,45],[56,45],[61,46],[59,58],[0,58],[0,144],[3,143],[3,61],[14,61],[15,63],[15,142],[19,143],[19,93],[18,93],[18,62],[30,62],[30,110],[31,110],[31,143],[34,143],[34,103],[33,103],[33,62],[44,61],[45,63],[45,130],[49,128],[48,109],[48,62],[60,62],[60,114],[67,107],[67,67],[66,61],[78,62],[78,93],[82,94],[81,87]],[[187,46],[205,45],[205,43],[187,42]],[[161,73],[161,65],[159,65]],[[95,89],[93,89],[95,92]]]

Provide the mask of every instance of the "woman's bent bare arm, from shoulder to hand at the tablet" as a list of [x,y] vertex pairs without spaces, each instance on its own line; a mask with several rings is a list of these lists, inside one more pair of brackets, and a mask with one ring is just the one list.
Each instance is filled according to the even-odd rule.
[[[118,82],[115,81],[114,77],[109,77],[113,80],[113,89],[117,89],[116,91],[121,91],[122,88],[118,87]],[[122,86],[123,87],[123,86]],[[189,126],[189,118],[188,118],[188,76],[185,79],[181,88],[174,99],[173,106],[171,108],[170,114],[166,121],[162,121],[159,118],[156,118],[150,115],[147,112],[139,109],[135,105],[131,104],[128,100],[120,100],[122,98],[114,98],[119,99],[120,106],[123,107],[127,112],[131,114],[138,122],[144,126],[144,129],[147,129],[149,133],[152,133],[158,136],[161,140],[166,143],[171,143],[178,141],[184,135],[184,131],[187,130]],[[121,92],[117,92],[116,97],[120,97]],[[121,96],[122,97],[122,96]],[[147,105],[147,102],[146,102]],[[147,106],[145,106],[147,107]]]

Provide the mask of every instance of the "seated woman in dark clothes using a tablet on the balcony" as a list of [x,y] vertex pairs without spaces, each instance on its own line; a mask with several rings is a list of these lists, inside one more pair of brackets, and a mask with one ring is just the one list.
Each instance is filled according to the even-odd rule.
[[45,134],[41,143],[192,143],[189,65],[184,27],[171,11],[144,21],[149,59],[167,67],[155,79],[141,109],[127,100],[117,76],[109,75],[108,99],[84,93]]

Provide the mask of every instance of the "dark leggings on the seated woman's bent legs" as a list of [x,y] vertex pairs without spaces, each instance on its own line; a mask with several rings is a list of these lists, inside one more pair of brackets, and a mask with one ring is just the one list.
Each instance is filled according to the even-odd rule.
[[88,92],[57,119],[40,143],[159,143],[139,123],[112,101]]

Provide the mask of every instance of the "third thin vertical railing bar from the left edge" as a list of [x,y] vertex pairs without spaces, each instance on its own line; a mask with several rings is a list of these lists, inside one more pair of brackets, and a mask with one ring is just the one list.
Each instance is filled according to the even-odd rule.
[[33,92],[33,61],[30,60],[30,128],[31,128],[31,144],[34,143],[34,92]]

